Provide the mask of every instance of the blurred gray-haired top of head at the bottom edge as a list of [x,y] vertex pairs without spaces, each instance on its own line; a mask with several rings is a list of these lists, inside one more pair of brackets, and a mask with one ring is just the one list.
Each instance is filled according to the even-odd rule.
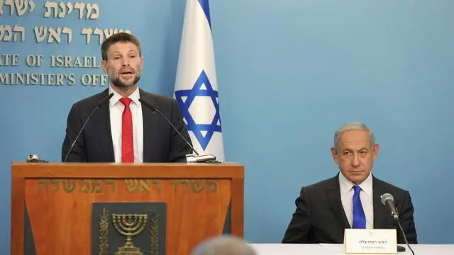
[[243,239],[224,235],[201,242],[192,255],[257,255],[257,253]]

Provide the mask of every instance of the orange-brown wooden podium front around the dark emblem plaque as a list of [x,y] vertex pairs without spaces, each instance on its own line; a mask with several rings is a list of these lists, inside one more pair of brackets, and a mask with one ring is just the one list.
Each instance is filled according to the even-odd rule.
[[14,255],[23,255],[24,202],[37,255],[90,254],[95,202],[167,203],[169,255],[190,254],[202,240],[221,234],[230,203],[232,234],[243,237],[243,166],[238,164],[16,162],[12,171]]

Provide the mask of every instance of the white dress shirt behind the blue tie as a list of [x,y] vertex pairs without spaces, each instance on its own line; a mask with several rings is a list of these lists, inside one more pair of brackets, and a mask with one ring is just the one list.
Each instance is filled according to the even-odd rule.
[[[348,181],[348,179],[343,176],[342,173],[339,173],[339,186],[341,188],[341,200],[343,205],[343,210],[347,216],[348,223],[350,227],[353,225],[353,194],[355,190],[353,186],[355,183]],[[366,216],[366,229],[374,228],[374,200],[372,196],[372,174],[367,176],[360,185],[360,199],[362,204],[362,209]]]

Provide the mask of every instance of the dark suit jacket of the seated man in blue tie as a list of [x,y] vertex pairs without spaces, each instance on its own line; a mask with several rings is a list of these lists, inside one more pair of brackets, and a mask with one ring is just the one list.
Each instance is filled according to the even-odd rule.
[[[410,244],[416,244],[416,229],[413,219],[413,204],[410,194],[396,186],[372,176],[374,228],[394,229],[391,212],[382,204],[380,196],[390,193],[399,211],[399,219]],[[282,243],[333,243],[343,244],[345,228],[350,228],[343,210],[338,175],[301,188],[295,201],[293,214]],[[404,244],[404,236],[397,229],[397,242]]]

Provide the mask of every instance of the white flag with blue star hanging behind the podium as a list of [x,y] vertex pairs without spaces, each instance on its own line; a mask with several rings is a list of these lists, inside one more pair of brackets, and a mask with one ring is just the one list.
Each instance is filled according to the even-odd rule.
[[186,1],[175,98],[194,149],[199,154],[214,154],[224,162],[208,0]]

